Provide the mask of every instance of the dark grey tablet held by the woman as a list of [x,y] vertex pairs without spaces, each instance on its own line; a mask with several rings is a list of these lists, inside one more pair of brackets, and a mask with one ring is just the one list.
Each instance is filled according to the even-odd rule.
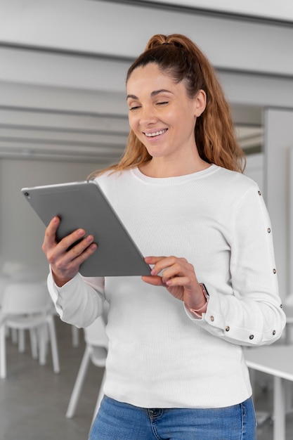
[[81,264],[79,272],[83,276],[150,275],[150,266],[96,181],[34,186],[21,191],[46,226],[53,216],[60,217],[57,240],[78,228],[93,235],[98,248]]

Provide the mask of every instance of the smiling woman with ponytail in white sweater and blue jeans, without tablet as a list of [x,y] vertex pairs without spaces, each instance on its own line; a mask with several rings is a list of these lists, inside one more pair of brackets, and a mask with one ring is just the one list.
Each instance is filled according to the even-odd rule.
[[[83,278],[84,230],[43,250],[63,321],[84,327],[110,304],[105,398],[91,440],[256,438],[242,346],[285,325],[271,224],[214,70],[180,34],[155,35],[126,77],[131,131],[96,179],[151,276]],[[67,248],[77,238],[82,242]]]

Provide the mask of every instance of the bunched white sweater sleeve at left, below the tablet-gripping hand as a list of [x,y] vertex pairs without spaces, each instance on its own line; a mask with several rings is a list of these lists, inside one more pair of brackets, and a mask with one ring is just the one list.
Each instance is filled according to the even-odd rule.
[[84,328],[103,313],[104,278],[85,278],[77,273],[63,287],[58,287],[50,271],[47,284],[58,316],[65,323]]

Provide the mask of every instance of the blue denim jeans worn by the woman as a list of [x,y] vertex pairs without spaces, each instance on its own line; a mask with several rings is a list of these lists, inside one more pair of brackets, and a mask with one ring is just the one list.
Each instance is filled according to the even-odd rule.
[[252,399],[227,408],[138,408],[104,396],[89,440],[256,440]]

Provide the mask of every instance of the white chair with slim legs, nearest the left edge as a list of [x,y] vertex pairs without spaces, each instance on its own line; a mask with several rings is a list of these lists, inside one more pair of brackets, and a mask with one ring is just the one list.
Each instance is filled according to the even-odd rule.
[[[47,336],[50,337],[53,370],[59,373],[59,358],[51,298],[45,283],[11,282],[6,285],[0,313],[0,377],[6,377],[6,329],[30,330],[32,356],[46,363]],[[37,332],[36,332],[37,330]],[[48,330],[48,334],[47,334]],[[38,338],[37,338],[38,336]],[[38,339],[38,340],[37,340]],[[23,342],[22,342],[23,345]]]

